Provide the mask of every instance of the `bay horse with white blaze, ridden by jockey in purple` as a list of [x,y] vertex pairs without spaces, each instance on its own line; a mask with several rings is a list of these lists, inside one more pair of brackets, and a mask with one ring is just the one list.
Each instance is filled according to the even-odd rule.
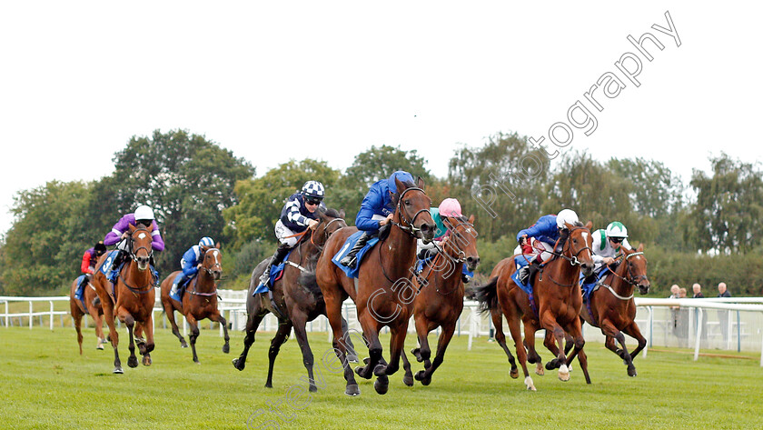
[[[122,362],[119,360],[119,335],[114,328],[114,317],[118,317],[130,335],[130,356],[127,365],[137,367],[135,356],[133,329],[140,325],[145,332],[145,342],[138,345],[143,364],[151,365],[151,351],[154,350],[154,274],[150,261],[154,255],[151,247],[151,231],[145,225],[130,225],[127,244],[130,258],[124,264],[117,276],[116,285],[111,284],[100,269],[104,264],[111,265],[109,254],[104,254],[98,260],[92,283],[95,292],[104,307],[104,318],[109,326],[109,339],[114,347],[114,374],[123,374]],[[136,327],[137,328],[137,327]]]

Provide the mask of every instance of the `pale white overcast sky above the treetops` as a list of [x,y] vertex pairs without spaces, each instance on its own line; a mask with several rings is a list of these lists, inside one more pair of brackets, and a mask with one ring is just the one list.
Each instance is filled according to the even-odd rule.
[[[157,128],[205,135],[257,175],[393,145],[444,176],[454,149],[496,132],[552,152],[580,101],[597,128],[570,128],[562,150],[656,159],[685,182],[721,150],[763,159],[758,2],[525,3],[3,2],[0,231],[18,191],[109,175]],[[680,46],[652,28],[666,11]],[[664,45],[645,43],[651,62],[627,40],[646,32]],[[615,65],[626,53],[638,87]],[[607,72],[625,87],[599,112],[584,93]]]

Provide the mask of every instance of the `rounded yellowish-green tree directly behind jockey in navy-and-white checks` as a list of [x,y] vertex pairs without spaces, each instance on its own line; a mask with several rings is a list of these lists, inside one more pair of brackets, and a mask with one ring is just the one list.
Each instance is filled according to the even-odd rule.
[[324,203],[332,207],[337,198],[333,185],[339,175],[339,170],[332,169],[326,162],[307,158],[299,162],[290,160],[263,177],[236,183],[233,193],[238,203],[223,210],[225,234],[233,239],[233,249],[238,250],[252,240],[272,241],[273,227],[284,202],[309,180],[323,184]]

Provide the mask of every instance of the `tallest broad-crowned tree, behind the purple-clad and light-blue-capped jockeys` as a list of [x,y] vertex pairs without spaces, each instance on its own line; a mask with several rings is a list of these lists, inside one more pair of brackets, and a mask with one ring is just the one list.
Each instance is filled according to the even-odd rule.
[[248,161],[184,130],[133,136],[114,155],[114,167],[114,175],[98,188],[99,196],[113,205],[104,232],[137,205],[152,206],[166,245],[157,259],[163,273],[174,270],[183,252],[203,235],[224,239],[223,210],[237,203],[233,186],[254,175]]

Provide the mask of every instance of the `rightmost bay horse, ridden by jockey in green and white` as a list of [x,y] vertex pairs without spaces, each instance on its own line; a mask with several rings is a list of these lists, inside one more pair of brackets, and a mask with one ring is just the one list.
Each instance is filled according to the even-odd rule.
[[[589,305],[580,308],[580,319],[601,329],[601,333],[606,336],[604,345],[609,351],[622,358],[629,376],[636,376],[633,359],[647,345],[647,339],[641,335],[639,325],[636,325],[636,303],[633,300],[633,290],[637,286],[639,294],[649,293],[644,244],[639,245],[636,250],[623,248],[622,254],[617,259],[622,262],[614,272],[609,272],[601,280],[597,289],[591,292]],[[623,333],[639,342],[639,346],[630,354],[625,346]],[[621,348],[617,347],[615,340],[619,342]],[[569,352],[571,347],[572,345],[568,342],[565,352]],[[553,349],[550,351],[556,354]]]

